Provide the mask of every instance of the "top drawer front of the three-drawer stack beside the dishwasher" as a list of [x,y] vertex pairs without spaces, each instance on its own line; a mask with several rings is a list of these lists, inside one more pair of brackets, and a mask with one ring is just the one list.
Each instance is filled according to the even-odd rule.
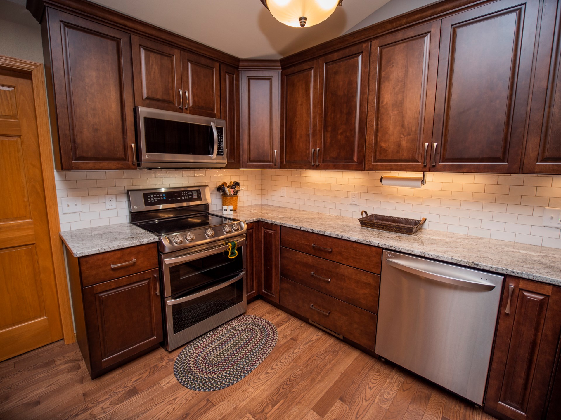
[[319,256],[337,263],[351,265],[380,274],[382,250],[375,246],[314,234],[290,227],[280,232],[280,245],[302,253]]

